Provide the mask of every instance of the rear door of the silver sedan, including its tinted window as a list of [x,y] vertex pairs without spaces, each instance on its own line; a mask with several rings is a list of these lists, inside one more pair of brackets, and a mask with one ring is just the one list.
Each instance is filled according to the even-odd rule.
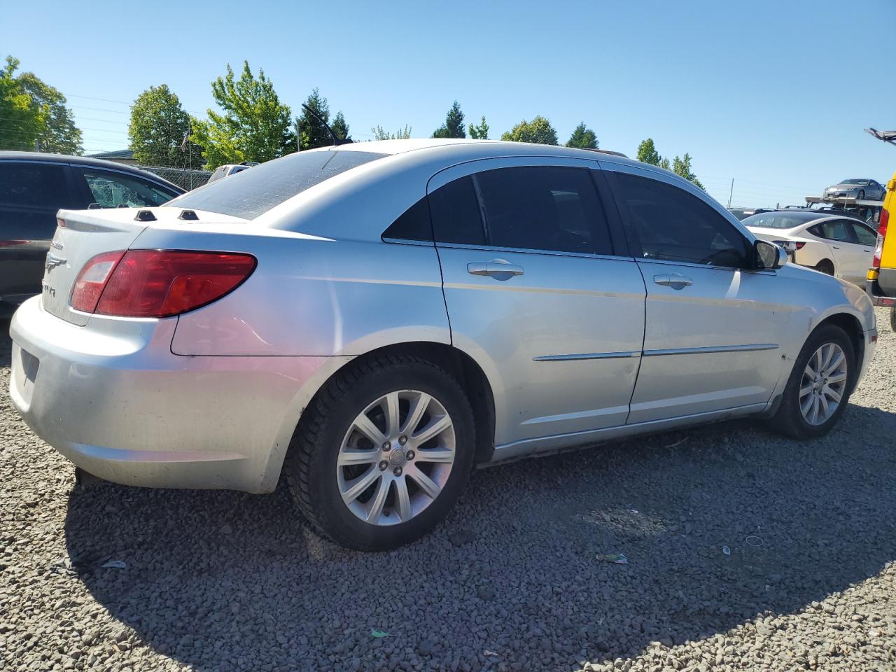
[[452,341],[495,392],[504,455],[625,424],[644,285],[610,232],[596,162],[489,159],[430,180]]

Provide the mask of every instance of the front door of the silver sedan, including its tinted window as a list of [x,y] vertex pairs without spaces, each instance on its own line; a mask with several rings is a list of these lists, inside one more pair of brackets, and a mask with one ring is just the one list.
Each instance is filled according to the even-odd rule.
[[627,166],[606,174],[647,286],[628,422],[765,404],[789,320],[774,271],[750,270],[744,233],[668,177]]

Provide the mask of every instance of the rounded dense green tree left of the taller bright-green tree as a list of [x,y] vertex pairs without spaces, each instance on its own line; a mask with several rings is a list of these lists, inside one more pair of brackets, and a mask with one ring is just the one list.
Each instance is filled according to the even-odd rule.
[[[184,138],[190,135],[190,116],[181,107],[177,94],[168,84],[151,86],[143,91],[131,106],[131,123],[127,127],[134,159],[144,166],[183,166]],[[196,148],[197,162],[201,149]],[[187,156],[190,156],[187,151]]]

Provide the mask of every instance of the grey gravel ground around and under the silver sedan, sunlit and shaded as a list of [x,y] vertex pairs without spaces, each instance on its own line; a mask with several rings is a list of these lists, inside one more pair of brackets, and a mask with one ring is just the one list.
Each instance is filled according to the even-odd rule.
[[0,668],[896,668],[883,318],[821,441],[734,422],[481,470],[439,530],[377,555],[315,537],[282,487],[76,492],[13,412],[4,340]]

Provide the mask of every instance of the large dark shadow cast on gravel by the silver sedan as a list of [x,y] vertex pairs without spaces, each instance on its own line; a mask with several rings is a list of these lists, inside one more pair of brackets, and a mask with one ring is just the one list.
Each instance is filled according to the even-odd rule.
[[732,422],[479,470],[448,521],[392,553],[316,537],[283,487],[101,484],[73,492],[65,535],[125,631],[199,669],[569,670],[880,572],[893,435],[896,414],[850,406],[814,442]]

